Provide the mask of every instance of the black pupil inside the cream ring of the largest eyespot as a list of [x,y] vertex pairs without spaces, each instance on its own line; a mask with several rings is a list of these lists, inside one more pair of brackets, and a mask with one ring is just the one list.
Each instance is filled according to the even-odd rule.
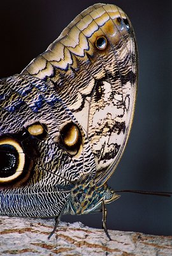
[[18,152],[12,145],[0,145],[0,178],[10,177],[18,166]]

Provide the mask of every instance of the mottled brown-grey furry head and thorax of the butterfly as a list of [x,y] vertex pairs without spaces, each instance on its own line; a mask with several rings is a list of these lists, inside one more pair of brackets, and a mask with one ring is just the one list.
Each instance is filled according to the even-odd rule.
[[85,183],[80,182],[71,191],[65,213],[87,214],[94,212],[101,207],[102,201],[105,204],[110,204],[119,197],[107,184],[97,187],[95,180]]

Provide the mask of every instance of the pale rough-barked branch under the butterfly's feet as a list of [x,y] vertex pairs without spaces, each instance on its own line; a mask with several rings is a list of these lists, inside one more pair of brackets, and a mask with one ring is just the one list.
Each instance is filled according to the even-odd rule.
[[109,230],[109,241],[101,229],[61,222],[48,240],[53,227],[53,220],[1,217],[0,255],[172,255],[171,236]]

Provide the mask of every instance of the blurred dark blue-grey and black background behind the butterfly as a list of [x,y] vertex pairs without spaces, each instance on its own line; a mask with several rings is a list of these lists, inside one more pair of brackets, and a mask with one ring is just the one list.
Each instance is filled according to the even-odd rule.
[[[99,1],[1,1],[0,77],[20,73],[82,10]],[[133,23],[140,56],[136,114],[129,143],[109,180],[114,189],[172,191],[171,0],[101,1]],[[122,194],[108,205],[110,229],[172,235],[172,198]],[[101,214],[64,216],[101,227]]]

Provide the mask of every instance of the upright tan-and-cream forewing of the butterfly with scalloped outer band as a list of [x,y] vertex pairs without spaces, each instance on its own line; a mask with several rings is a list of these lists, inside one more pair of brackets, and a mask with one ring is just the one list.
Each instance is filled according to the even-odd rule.
[[[101,38],[104,49],[96,45]],[[138,51],[129,18],[113,4],[90,6],[23,73],[54,84],[87,133],[97,185],[106,182],[124,152],[136,101]]]

